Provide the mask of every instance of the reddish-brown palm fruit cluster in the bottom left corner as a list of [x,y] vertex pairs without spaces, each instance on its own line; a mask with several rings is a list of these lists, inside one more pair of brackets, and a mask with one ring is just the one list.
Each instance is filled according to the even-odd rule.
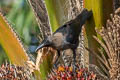
[[28,69],[9,63],[0,67],[0,80],[30,80],[31,73]]

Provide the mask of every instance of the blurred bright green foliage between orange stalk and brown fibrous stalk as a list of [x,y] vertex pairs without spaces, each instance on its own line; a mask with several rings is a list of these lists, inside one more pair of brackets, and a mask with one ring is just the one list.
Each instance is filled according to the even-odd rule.
[[35,32],[36,22],[32,10],[25,0],[19,0],[12,5],[12,9],[7,14],[7,18],[15,30],[18,32],[25,44],[31,40],[31,32]]

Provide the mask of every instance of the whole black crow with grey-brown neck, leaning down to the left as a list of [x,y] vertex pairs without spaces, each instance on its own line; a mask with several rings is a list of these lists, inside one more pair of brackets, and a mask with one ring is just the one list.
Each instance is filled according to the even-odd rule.
[[79,44],[79,35],[83,24],[86,20],[92,16],[92,11],[84,9],[75,19],[65,23],[59,27],[52,35],[45,38],[36,51],[43,47],[52,47],[57,50],[58,58],[55,64],[57,64],[60,57],[60,51],[71,49],[73,51],[74,64],[76,59],[76,48]]

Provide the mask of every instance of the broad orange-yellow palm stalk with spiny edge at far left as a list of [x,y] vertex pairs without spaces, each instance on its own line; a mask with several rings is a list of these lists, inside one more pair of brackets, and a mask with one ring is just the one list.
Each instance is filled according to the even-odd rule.
[[28,60],[27,53],[23,48],[17,34],[8,24],[5,17],[0,13],[0,44],[13,64],[23,66]]

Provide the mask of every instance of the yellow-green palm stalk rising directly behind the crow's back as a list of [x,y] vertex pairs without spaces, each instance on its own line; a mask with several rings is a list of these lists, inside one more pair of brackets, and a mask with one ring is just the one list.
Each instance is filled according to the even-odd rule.
[[65,19],[65,16],[68,16],[65,15],[68,11],[68,8],[65,8],[66,2],[69,2],[69,0],[45,0],[50,26],[53,32],[67,21]]

